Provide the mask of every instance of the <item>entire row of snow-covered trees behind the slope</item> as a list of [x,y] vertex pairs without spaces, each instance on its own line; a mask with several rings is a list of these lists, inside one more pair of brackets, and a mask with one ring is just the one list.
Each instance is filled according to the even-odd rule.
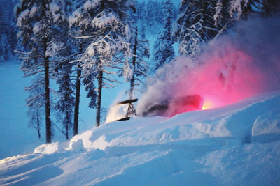
[[[98,127],[102,90],[118,86],[117,76],[130,83],[132,98],[135,86],[148,76],[149,66],[157,70],[174,59],[174,42],[179,42],[179,54],[195,57],[203,42],[225,33],[234,22],[250,13],[279,13],[279,7],[279,1],[272,0],[183,0],[178,14],[169,0],[20,0],[15,6],[20,43],[16,52],[23,59],[25,76],[33,77],[27,87],[30,123],[38,137],[45,123],[46,142],[50,143],[56,126],[51,120],[54,111],[66,139],[78,134],[84,84],[89,107],[97,110]],[[154,45],[153,64],[148,64],[145,29],[157,21],[162,29]],[[58,91],[50,87],[50,79]]]

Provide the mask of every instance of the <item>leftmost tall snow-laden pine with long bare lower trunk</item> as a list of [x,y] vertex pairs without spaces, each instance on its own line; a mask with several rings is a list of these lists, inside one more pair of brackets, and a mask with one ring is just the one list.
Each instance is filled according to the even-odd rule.
[[[24,59],[22,71],[26,76],[40,75],[40,83],[44,84],[45,104],[45,138],[52,141],[52,123],[50,121],[50,76],[55,66],[52,61],[63,48],[61,32],[65,21],[64,0],[21,0],[15,7],[18,36],[25,51],[18,52]],[[39,86],[36,84],[34,86]],[[36,96],[36,95],[33,95]]]

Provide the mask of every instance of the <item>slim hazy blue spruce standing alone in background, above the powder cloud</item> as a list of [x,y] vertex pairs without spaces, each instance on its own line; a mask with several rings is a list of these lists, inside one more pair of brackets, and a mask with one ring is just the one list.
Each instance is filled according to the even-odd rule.
[[162,67],[165,63],[169,63],[174,59],[174,39],[172,38],[172,23],[173,23],[173,13],[174,6],[171,1],[167,0],[163,6],[164,18],[163,22],[165,27],[158,34],[158,38],[155,41],[153,56],[155,61],[155,70]]

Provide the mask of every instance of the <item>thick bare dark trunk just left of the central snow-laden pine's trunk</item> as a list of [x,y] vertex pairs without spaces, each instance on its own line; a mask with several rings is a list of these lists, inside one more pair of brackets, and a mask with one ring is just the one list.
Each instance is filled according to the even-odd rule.
[[73,123],[73,136],[78,134],[78,115],[80,107],[80,76],[82,70],[80,70],[80,64],[78,64],[77,79],[76,79],[76,98],[75,98],[75,111],[74,111],[74,123]]

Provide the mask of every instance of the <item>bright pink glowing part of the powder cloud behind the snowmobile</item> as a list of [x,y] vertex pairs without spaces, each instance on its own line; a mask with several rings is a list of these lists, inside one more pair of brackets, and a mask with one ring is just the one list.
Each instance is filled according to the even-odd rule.
[[253,57],[228,46],[220,54],[199,59],[204,65],[189,68],[179,78],[174,97],[201,95],[202,109],[221,107],[262,91],[265,76],[253,65]]

